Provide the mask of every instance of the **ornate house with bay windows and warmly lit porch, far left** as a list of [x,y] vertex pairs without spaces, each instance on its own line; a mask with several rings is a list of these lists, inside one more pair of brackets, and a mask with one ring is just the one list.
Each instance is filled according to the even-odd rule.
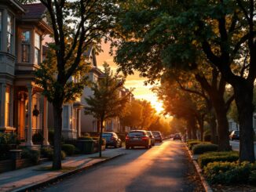
[[41,3],[0,2],[0,130],[16,132],[27,146],[43,132],[48,144],[47,107],[35,71],[42,62],[42,40],[52,30]]

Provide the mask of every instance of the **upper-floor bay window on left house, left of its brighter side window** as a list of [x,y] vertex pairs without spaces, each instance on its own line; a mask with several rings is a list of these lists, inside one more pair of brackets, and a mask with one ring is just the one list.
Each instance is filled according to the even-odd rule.
[[30,61],[30,31],[23,31],[21,34],[21,61],[28,63]]

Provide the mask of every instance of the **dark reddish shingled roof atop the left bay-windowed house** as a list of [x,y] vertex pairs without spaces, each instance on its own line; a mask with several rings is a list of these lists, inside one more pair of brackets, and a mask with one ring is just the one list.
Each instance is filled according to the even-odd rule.
[[46,6],[42,3],[31,3],[23,5],[26,13],[22,16],[23,19],[41,20],[46,12]]

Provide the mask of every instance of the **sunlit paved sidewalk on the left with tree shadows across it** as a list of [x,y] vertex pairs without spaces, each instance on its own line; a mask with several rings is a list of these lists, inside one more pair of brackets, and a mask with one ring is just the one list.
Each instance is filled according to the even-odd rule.
[[66,172],[49,170],[42,171],[42,168],[50,167],[52,165],[52,161],[29,168],[4,172],[0,174],[0,191],[26,191],[27,189],[32,189],[45,183],[53,182],[56,179],[78,172],[83,168],[97,165],[103,161],[108,161],[123,154],[122,149],[108,149],[102,151],[102,156],[108,158],[92,158],[97,157],[98,153],[68,157],[66,160],[62,161],[62,167],[67,167],[69,169]]

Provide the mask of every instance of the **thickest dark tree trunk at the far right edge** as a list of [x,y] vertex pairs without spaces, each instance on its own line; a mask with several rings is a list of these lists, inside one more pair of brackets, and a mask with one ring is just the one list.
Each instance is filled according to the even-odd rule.
[[236,106],[240,123],[240,161],[255,161],[253,129],[253,85],[245,82],[234,86]]

